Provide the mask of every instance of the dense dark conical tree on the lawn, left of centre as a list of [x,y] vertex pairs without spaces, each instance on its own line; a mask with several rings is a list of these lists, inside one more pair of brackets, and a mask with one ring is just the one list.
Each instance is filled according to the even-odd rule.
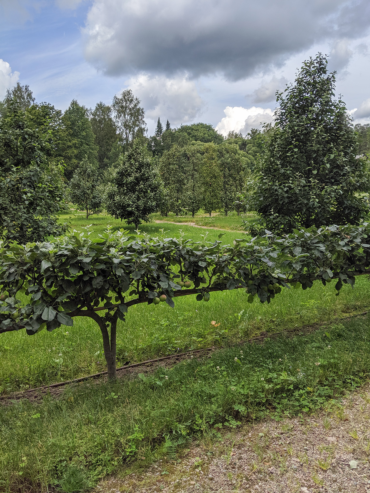
[[148,151],[139,139],[121,158],[120,166],[107,194],[107,212],[138,228],[157,210],[161,183]]

